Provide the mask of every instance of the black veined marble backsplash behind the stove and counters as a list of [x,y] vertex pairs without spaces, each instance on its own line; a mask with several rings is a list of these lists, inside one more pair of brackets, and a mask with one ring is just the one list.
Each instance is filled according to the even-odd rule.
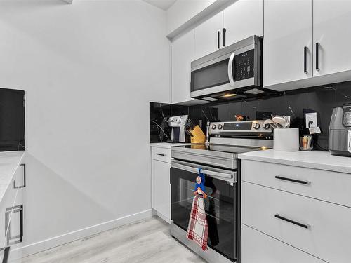
[[183,114],[188,114],[193,123],[200,121],[204,131],[207,121],[235,121],[236,114],[248,116],[251,120],[267,119],[270,114],[290,115],[291,128],[300,128],[300,132],[304,133],[303,110],[310,109],[319,112],[322,133],[316,137],[316,141],[319,147],[326,149],[333,107],[345,103],[351,103],[351,81],[289,90],[281,96],[257,100],[213,102],[194,106],[150,102],[150,142],[162,142],[170,137],[169,130],[163,129],[163,132],[161,129],[164,117]]

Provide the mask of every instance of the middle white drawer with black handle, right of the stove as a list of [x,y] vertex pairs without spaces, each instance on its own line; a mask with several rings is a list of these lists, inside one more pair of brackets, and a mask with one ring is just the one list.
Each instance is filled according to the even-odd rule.
[[248,182],[241,207],[243,224],[327,262],[350,262],[350,208]]

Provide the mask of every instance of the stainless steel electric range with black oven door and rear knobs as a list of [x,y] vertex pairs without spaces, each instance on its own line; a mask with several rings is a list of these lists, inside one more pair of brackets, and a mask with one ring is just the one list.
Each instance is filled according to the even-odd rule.
[[[172,147],[171,235],[208,262],[240,262],[240,160],[238,154],[273,147],[263,121],[208,123],[207,144]],[[208,250],[187,240],[198,169],[206,176]]]

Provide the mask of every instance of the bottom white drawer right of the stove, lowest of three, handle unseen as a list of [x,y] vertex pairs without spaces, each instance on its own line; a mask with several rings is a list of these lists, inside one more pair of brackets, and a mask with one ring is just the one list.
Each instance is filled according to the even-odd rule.
[[241,231],[241,263],[325,263],[244,224]]

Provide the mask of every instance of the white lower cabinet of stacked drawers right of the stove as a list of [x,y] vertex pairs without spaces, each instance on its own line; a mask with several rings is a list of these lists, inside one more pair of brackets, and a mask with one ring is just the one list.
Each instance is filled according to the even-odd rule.
[[[250,160],[241,165],[243,263],[350,262],[350,174]],[[291,252],[279,255],[274,244]],[[257,261],[259,253],[264,260]]]

